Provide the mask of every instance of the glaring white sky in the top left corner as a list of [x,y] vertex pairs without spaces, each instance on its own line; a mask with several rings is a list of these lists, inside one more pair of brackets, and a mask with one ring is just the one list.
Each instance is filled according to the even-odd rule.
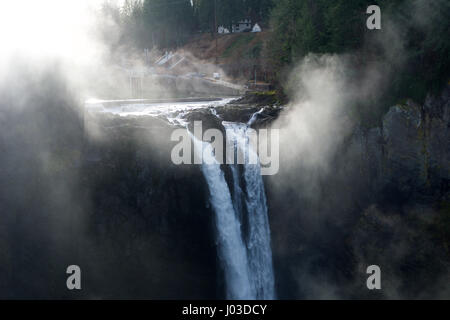
[[0,0],[0,58],[89,55],[89,23],[101,0]]

